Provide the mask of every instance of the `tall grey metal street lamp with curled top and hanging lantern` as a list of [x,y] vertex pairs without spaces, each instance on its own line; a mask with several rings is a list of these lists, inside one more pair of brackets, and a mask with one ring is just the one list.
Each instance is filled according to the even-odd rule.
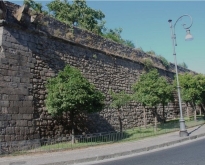
[[185,37],[186,41],[191,41],[193,40],[193,36],[190,34],[189,28],[192,26],[192,17],[190,15],[182,15],[180,16],[177,21],[175,22],[174,26],[172,26],[172,20],[168,20],[171,28],[171,38],[172,38],[172,45],[173,45],[173,55],[174,55],[174,62],[175,62],[175,70],[176,70],[176,79],[177,79],[177,92],[178,92],[178,99],[179,99],[179,108],[180,108],[180,119],[179,119],[179,125],[180,125],[180,132],[179,136],[188,136],[188,132],[185,127],[185,120],[183,118],[183,113],[182,113],[182,105],[181,105],[181,95],[180,95],[180,86],[179,86],[179,78],[178,78],[178,71],[177,71],[177,59],[176,59],[176,52],[175,52],[175,46],[177,46],[176,43],[176,34],[175,34],[175,26],[177,22],[182,18],[182,17],[189,17],[191,20],[190,26],[186,27],[186,24],[183,24],[183,28],[186,30],[187,34]]

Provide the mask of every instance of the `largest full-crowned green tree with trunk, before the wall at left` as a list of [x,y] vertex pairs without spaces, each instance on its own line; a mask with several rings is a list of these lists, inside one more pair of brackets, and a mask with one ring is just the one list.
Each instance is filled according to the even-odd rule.
[[66,66],[47,81],[46,107],[53,116],[69,113],[72,142],[74,142],[75,116],[80,113],[99,112],[104,106],[104,95],[82,76],[76,68]]

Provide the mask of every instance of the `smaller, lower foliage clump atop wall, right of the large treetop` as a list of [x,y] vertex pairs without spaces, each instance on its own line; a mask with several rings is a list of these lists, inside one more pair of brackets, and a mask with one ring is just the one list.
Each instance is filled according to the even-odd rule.
[[103,33],[103,37],[111,39],[117,43],[123,44],[125,46],[129,46],[131,48],[134,48],[135,45],[132,41],[130,40],[124,40],[121,37],[121,33],[122,33],[122,28],[115,28],[113,29],[104,29],[104,33]]

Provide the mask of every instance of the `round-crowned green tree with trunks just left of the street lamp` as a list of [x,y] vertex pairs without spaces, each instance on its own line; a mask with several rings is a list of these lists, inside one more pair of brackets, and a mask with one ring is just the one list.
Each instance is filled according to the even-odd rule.
[[[163,121],[165,120],[164,108],[173,100],[173,87],[164,77],[160,77],[156,69],[143,73],[139,80],[132,86],[134,99],[148,108],[154,107],[155,126],[157,106],[163,106]],[[144,110],[145,113],[145,110]],[[145,116],[145,115],[144,115]]]

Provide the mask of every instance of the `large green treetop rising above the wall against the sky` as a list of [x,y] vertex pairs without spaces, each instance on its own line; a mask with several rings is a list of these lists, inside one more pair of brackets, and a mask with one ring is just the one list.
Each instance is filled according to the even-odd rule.
[[72,4],[67,0],[54,0],[47,7],[56,19],[97,34],[101,34],[105,24],[102,11],[88,7],[85,0],[74,0]]

